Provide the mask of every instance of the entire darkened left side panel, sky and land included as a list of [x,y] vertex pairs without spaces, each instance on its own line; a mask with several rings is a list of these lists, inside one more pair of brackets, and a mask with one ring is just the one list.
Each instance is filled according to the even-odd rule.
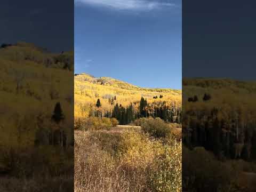
[[74,1],[0,7],[0,191],[74,191]]

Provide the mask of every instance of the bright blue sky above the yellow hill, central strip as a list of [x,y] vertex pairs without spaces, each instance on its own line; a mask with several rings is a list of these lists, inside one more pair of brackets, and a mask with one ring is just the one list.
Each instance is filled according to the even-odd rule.
[[75,0],[75,73],[181,89],[181,0]]

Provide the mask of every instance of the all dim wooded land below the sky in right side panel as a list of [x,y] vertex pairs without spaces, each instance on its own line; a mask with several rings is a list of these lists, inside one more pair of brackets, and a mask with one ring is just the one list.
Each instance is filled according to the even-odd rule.
[[256,84],[218,78],[182,83],[183,188],[254,191]]

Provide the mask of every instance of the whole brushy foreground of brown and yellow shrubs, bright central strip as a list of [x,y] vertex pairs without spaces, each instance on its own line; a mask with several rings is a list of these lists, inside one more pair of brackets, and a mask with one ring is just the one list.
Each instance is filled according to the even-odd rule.
[[75,191],[181,191],[181,142],[172,143],[140,129],[75,131]]

